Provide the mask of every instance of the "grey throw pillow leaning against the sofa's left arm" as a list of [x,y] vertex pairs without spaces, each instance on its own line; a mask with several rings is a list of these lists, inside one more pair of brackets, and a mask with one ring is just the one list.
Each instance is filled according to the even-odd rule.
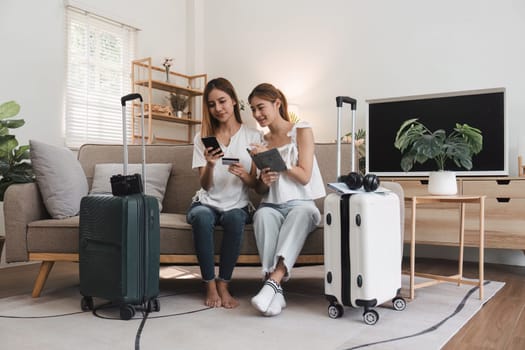
[[51,217],[78,215],[80,200],[88,194],[86,174],[66,147],[30,140],[30,157],[44,205]]

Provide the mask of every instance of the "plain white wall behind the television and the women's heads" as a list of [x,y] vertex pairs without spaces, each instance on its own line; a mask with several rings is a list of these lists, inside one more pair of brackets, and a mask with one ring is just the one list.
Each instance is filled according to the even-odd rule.
[[[509,169],[517,175],[520,137],[525,145],[525,2],[204,4],[208,76],[229,78],[243,98],[256,84],[273,83],[299,105],[317,141],[336,138],[337,95],[357,98],[357,123],[364,127],[367,99],[505,87]],[[253,125],[249,113],[244,117]],[[343,130],[350,130],[348,120]],[[486,255],[489,262],[525,265],[521,251],[488,250]],[[457,252],[421,247],[418,256],[455,259]],[[466,258],[476,260],[476,252],[467,249]]]

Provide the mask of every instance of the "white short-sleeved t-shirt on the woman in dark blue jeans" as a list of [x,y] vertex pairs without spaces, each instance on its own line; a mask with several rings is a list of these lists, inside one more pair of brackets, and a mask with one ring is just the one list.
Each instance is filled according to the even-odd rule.
[[[241,125],[241,128],[232,136],[230,144],[221,148],[225,157],[239,158],[239,163],[250,171],[252,159],[246,151],[252,143],[261,143],[262,134],[252,128]],[[204,145],[201,134],[198,132],[193,140],[193,163],[192,168],[198,169],[206,166],[204,157]],[[222,165],[219,159],[213,168],[213,185],[206,191],[201,188],[197,191],[198,201],[221,211],[234,208],[244,208],[248,205],[248,188],[242,180],[228,172],[228,166]]]

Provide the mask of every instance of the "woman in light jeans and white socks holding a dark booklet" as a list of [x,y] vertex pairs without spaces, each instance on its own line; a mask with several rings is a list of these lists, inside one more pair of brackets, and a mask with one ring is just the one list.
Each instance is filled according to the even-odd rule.
[[255,187],[263,194],[253,220],[266,280],[252,305],[265,316],[275,316],[286,306],[281,282],[290,278],[306,238],[321,222],[314,199],[326,193],[314,155],[312,128],[304,121],[290,121],[284,94],[271,84],[260,84],[248,102],[257,123],[269,129],[264,144],[252,152],[276,148],[287,167],[283,172],[262,169]]

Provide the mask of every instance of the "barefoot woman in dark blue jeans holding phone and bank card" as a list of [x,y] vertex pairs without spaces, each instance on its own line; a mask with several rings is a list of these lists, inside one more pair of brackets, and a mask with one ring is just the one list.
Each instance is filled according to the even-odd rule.
[[[195,251],[206,284],[205,305],[234,308],[239,302],[228,283],[239,256],[244,226],[250,221],[248,189],[256,183],[255,166],[246,148],[261,142],[261,134],[242,123],[239,100],[232,84],[224,78],[210,80],[204,89],[201,132],[194,138],[193,164],[198,169],[201,189],[186,215],[192,225]],[[220,148],[206,148],[203,137],[215,136]],[[222,157],[238,158],[223,164]],[[214,227],[223,227],[219,274],[215,275]]]

